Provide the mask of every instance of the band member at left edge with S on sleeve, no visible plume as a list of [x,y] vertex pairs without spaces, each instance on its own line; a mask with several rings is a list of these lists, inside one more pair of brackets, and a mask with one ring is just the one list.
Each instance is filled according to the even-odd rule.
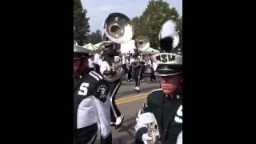
[[91,71],[89,54],[74,46],[74,143],[112,143],[109,87],[100,74]]

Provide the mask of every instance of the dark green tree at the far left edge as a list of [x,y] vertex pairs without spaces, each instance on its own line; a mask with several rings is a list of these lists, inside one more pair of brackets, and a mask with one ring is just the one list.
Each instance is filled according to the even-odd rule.
[[88,34],[90,33],[90,18],[86,18],[86,10],[82,9],[81,0],[74,0],[74,40],[79,46],[86,44]]

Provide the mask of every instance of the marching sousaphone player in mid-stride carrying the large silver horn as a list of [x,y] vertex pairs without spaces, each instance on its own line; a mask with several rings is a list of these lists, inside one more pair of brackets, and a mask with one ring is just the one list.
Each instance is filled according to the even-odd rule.
[[130,41],[134,34],[134,26],[130,18],[121,13],[110,14],[104,22],[103,62],[100,71],[110,85],[111,125],[117,129],[122,125],[124,116],[115,104],[115,96],[121,86],[124,70],[122,68],[121,43]]

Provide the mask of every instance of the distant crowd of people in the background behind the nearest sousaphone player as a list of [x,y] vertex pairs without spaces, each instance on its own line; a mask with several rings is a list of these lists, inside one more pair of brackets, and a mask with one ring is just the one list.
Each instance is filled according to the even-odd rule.
[[[145,79],[148,80],[148,83],[157,82],[154,75],[157,63],[153,61],[152,55],[154,55],[154,52],[143,54],[136,58],[136,55],[129,51],[126,54],[122,54],[120,57],[122,69],[124,70],[122,80],[134,82],[134,90],[138,92],[140,90],[140,82],[145,82]],[[91,68],[98,70],[101,64],[102,57],[99,53],[95,52],[94,54],[90,54],[89,66]]]

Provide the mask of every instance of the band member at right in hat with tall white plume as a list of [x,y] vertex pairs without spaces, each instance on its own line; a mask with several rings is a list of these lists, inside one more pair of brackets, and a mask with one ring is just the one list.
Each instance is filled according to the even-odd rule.
[[137,144],[182,142],[182,55],[172,51],[178,46],[175,23],[165,22],[159,36],[162,53],[154,54],[154,61],[161,89],[153,90],[138,112]]

